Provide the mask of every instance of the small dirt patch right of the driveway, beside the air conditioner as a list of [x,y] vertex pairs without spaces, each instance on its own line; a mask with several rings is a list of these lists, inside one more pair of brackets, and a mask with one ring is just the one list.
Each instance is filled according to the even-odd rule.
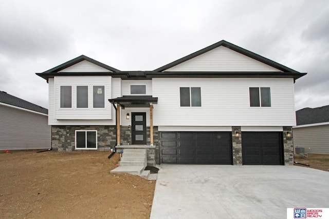
[[294,165],[329,171],[329,155],[327,154],[308,154],[308,157],[302,157],[299,154],[295,154],[295,161],[301,164],[308,164],[309,167],[301,164]]

